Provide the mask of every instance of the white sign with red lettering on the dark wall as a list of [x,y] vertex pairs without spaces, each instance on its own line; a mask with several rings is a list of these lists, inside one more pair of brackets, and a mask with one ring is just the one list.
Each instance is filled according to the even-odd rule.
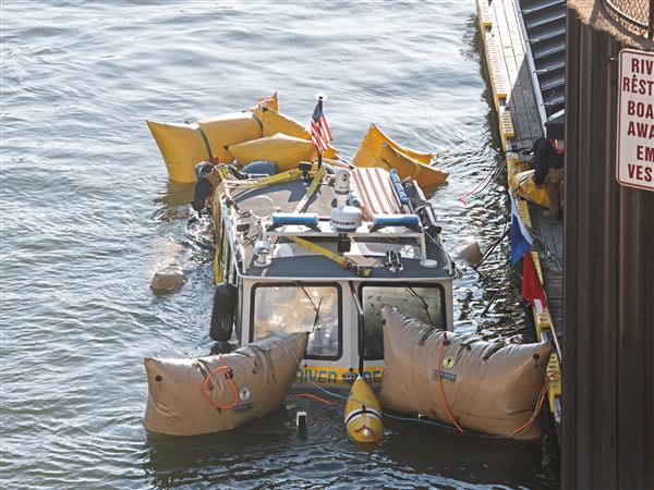
[[654,192],[654,52],[620,51],[616,179]]

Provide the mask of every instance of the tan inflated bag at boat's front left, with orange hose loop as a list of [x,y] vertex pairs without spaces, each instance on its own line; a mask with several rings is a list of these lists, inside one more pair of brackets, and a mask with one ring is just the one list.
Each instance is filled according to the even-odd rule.
[[307,332],[299,332],[218,356],[146,357],[145,428],[196,436],[234,429],[276,411],[295,379],[307,340]]

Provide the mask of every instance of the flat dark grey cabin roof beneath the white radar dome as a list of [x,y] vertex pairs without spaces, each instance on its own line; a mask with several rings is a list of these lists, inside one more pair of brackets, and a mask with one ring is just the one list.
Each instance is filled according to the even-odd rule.
[[[228,182],[234,184],[234,181]],[[225,208],[225,212],[230,215],[229,221],[233,223],[231,240],[240,245],[245,275],[284,280],[355,278],[350,268],[343,267],[342,261],[339,264],[335,260],[339,258],[368,269],[364,277],[370,281],[452,279],[453,265],[439,236],[433,237],[422,228],[389,225],[374,229],[373,222],[363,220],[359,229],[348,235],[348,252],[341,253],[341,235],[335,232],[329,223],[330,212],[336,204],[334,176],[326,175],[319,180],[311,197],[305,199],[313,185],[311,181],[294,180],[254,188],[240,188],[238,185],[229,188],[230,200],[235,206]],[[275,212],[300,217],[314,216],[317,220],[313,226],[284,224],[271,228],[269,223],[264,223],[264,234],[272,242],[272,252],[270,262],[262,265],[257,264],[255,253],[257,230],[262,224],[257,224],[257,219],[249,210],[253,206],[256,207],[257,199],[263,196],[269,200]],[[303,211],[295,213],[295,209],[304,200]],[[410,215],[417,220],[417,216]],[[238,232],[238,229],[244,231]],[[303,243],[299,243],[298,238]],[[315,246],[330,253],[331,257],[322,255]],[[397,253],[401,258],[399,270],[387,267],[386,254],[389,250]],[[423,259],[428,259],[432,264],[425,266]]]

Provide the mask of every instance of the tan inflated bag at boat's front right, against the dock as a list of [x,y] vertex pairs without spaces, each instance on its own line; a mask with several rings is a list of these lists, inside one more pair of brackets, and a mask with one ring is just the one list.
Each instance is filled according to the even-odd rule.
[[[534,439],[526,424],[545,385],[552,346],[475,340],[383,309],[382,405],[481,432]],[[451,416],[451,418],[450,418]]]

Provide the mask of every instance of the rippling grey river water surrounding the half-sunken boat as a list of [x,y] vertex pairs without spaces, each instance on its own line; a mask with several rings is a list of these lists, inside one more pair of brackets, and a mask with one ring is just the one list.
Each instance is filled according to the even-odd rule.
[[[202,230],[186,229],[191,191],[168,182],[144,120],[232,112],[279,90],[282,112],[307,121],[326,91],[346,155],[373,121],[439,154],[447,244],[485,249],[507,221],[502,188],[457,200],[498,159],[473,11],[472,0],[2,3],[3,488],[555,486],[538,443],[388,420],[383,443],[360,448],[339,406],[296,394],[232,433],[148,439],[141,425],[143,356],[206,353],[213,290]],[[189,283],[157,297],[149,280],[172,258]],[[506,267],[506,244],[482,274],[461,265],[457,330],[519,330]]]

